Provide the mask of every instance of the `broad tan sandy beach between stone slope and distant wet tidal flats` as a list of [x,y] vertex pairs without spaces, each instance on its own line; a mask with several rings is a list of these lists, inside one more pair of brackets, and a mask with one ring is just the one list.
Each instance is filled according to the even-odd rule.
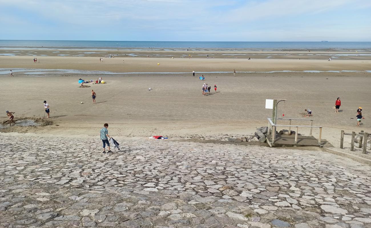
[[[311,108],[314,125],[324,126],[322,137],[338,144],[340,130],[371,132],[371,73],[237,73],[239,71],[272,70],[371,70],[369,60],[297,60],[297,59],[171,59],[171,58],[105,58],[0,56],[1,68],[40,68],[103,70],[110,72],[196,72],[227,71],[205,74],[211,95],[201,95],[204,82],[189,74],[171,75],[133,73],[103,75],[106,84],[78,88],[77,79],[95,80],[100,75],[0,75],[1,110],[16,116],[42,117],[43,100],[50,105],[55,125],[28,128],[28,132],[63,136],[95,135],[103,123],[109,123],[111,135],[121,136],[193,136],[251,135],[256,127],[267,125],[271,111],[265,99],[283,98],[279,115],[301,118]],[[122,60],[125,63],[122,63]],[[158,66],[157,63],[160,63]],[[198,75],[198,74],[197,74]],[[213,86],[217,85],[217,93]],[[153,90],[149,91],[148,88]],[[92,103],[91,89],[97,93]],[[340,113],[332,107],[340,97]],[[83,102],[83,104],[81,104]],[[365,120],[356,127],[358,106],[364,109]],[[354,119],[351,119],[354,118]],[[0,119],[3,120],[3,119]],[[282,122],[283,123],[283,122]],[[297,124],[297,123],[293,123]],[[302,124],[302,123],[300,123]],[[58,125],[58,126],[57,126]],[[12,131],[12,129],[2,130]],[[308,129],[299,129],[308,134]],[[313,130],[314,136],[318,130]],[[336,145],[338,146],[338,145]]]

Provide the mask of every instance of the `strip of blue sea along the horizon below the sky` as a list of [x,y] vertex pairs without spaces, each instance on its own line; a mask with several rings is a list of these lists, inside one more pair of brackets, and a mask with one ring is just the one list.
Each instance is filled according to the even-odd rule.
[[0,48],[65,49],[338,49],[371,50],[371,42],[197,42],[197,41],[103,41],[103,40],[0,40]]

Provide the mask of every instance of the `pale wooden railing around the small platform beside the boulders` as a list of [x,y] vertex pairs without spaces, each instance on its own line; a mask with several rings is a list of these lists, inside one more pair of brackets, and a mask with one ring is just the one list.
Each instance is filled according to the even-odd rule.
[[[270,134],[270,126],[272,126],[272,143],[275,142],[276,139],[276,127],[277,126],[282,126],[282,127],[289,127],[289,133],[291,132],[291,127],[295,127],[295,145],[298,143],[298,131],[299,127],[300,128],[311,128],[309,136],[312,136],[312,129],[313,128],[319,128],[319,137],[318,137],[318,144],[321,145],[321,136],[322,136],[322,126],[313,126],[313,120],[312,119],[291,119],[291,118],[277,118],[281,120],[289,120],[289,125],[278,125],[274,124],[272,122],[272,118],[267,118],[268,119],[268,135]],[[311,121],[311,125],[291,125],[291,120],[307,120]]]

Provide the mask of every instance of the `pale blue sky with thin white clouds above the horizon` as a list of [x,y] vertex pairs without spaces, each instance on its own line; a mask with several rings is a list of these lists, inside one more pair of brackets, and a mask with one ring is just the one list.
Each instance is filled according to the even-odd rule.
[[0,0],[3,40],[371,41],[371,0]]

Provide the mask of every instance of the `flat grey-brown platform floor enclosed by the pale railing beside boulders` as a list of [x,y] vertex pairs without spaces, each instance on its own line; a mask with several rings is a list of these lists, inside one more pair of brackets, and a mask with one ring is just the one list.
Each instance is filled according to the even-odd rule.
[[[327,141],[323,141],[326,143]],[[267,143],[270,147],[275,146],[320,146],[324,144],[318,143],[318,139],[313,136],[298,135],[298,142],[295,145],[295,135],[276,135],[275,143],[272,143],[272,134],[267,135]]]

